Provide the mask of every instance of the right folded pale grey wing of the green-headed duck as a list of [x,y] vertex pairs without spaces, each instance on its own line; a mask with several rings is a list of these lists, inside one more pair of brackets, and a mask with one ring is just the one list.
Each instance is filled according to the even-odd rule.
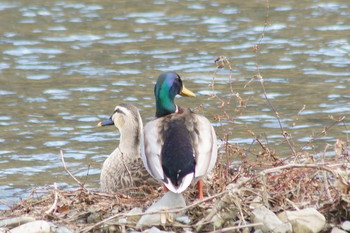
[[195,177],[200,178],[210,172],[217,159],[217,138],[210,121],[198,114],[192,114],[192,142],[196,156]]

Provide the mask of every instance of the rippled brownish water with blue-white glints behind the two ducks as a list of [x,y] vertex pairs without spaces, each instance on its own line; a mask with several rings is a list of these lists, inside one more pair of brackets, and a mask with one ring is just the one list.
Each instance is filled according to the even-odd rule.
[[[34,187],[76,187],[70,171],[98,188],[106,156],[117,145],[113,127],[97,128],[116,104],[129,102],[144,121],[154,115],[158,74],[177,71],[197,98],[178,98],[203,112],[218,136],[248,146],[254,131],[281,156],[290,154],[271,107],[299,149],[330,116],[350,113],[350,2],[273,1],[0,1],[0,209]],[[268,25],[256,58],[253,47]],[[216,66],[232,65],[232,97],[224,115],[220,100],[208,98]],[[230,99],[229,71],[215,74],[215,93]],[[305,108],[299,114],[298,112]],[[324,150],[346,140],[347,120],[305,148]],[[221,141],[221,140],[220,140]],[[252,153],[253,155],[253,153]],[[86,174],[89,174],[86,177]]]

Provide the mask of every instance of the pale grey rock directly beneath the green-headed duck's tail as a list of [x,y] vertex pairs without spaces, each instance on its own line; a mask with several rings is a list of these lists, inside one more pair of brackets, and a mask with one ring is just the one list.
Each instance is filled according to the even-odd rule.
[[[186,202],[182,194],[167,192],[159,201],[151,205],[145,213],[166,211],[174,208],[186,207]],[[137,226],[158,226],[165,224],[168,220],[173,221],[176,217],[182,216],[182,213],[157,213],[143,215],[137,222]]]

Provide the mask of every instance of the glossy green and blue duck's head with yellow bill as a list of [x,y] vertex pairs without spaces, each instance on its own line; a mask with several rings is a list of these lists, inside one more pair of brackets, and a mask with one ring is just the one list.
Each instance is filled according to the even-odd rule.
[[174,103],[174,98],[177,94],[190,97],[196,96],[184,86],[177,73],[169,71],[160,74],[154,87],[156,117],[176,112],[177,107]]

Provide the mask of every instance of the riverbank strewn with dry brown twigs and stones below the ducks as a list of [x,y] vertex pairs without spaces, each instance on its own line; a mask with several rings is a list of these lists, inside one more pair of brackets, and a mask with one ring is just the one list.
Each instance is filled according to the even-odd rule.
[[[195,190],[186,191],[187,206],[168,211],[181,217],[172,219],[173,215],[158,213],[164,218],[157,227],[175,232],[249,232],[252,228],[267,232],[280,224],[296,232],[300,226],[292,218],[302,218],[306,225],[314,224],[315,219],[321,224],[320,230],[304,232],[341,229],[350,218],[348,160],[347,154],[341,154],[327,159],[300,156],[283,162],[265,154],[254,162],[218,164],[206,184],[206,197],[198,201]],[[135,187],[106,194],[88,190],[81,183],[77,186],[75,190],[38,188],[29,198],[0,212],[0,222],[25,217],[50,223],[51,232],[141,232],[152,226],[142,227],[138,220],[164,195],[161,188]],[[309,212],[300,212],[304,210]],[[291,217],[298,212],[301,217]],[[27,222],[20,218],[2,228]]]

